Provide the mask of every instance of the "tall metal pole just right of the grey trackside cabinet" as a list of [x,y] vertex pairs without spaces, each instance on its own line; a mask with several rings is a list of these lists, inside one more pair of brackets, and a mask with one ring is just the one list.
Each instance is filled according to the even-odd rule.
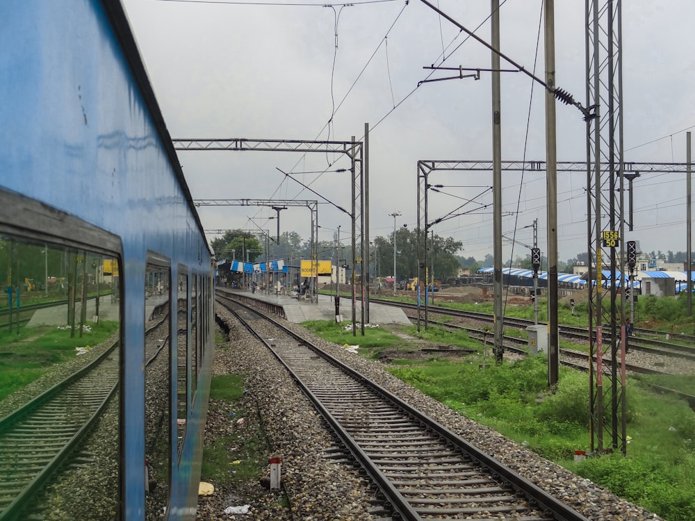
[[558,378],[557,150],[555,143],[555,0],[546,0],[546,204],[548,215],[548,387]]

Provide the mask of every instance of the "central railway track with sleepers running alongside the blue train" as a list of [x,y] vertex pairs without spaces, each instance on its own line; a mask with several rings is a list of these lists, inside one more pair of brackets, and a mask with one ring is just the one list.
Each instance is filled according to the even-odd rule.
[[[378,492],[373,515],[393,520],[584,521],[583,515],[304,338],[218,298],[260,338],[311,399]],[[256,333],[254,333],[256,334]]]

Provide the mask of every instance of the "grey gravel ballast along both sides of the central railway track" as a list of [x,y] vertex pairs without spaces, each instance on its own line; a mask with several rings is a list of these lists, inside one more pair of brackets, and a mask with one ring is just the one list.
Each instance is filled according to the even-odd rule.
[[[375,492],[352,464],[331,458],[335,440],[313,410],[311,402],[288,377],[284,367],[221,306],[218,316],[228,324],[229,347],[217,349],[213,374],[245,375],[245,409],[257,411],[240,427],[232,411],[211,403],[206,424],[208,437],[224,436],[240,429],[262,427],[269,440],[269,457],[282,461],[283,490],[268,490],[259,480],[216,488],[202,496],[198,520],[301,520],[370,521],[370,502]],[[592,521],[660,520],[657,515],[625,501],[591,481],[578,477],[488,427],[477,424],[342,347],[311,336],[306,329],[287,323],[332,356],[354,367],[365,377],[426,411],[437,422],[480,447]],[[263,336],[263,331],[257,331]],[[270,334],[270,333],[268,333]],[[215,483],[213,483],[214,485]],[[248,513],[227,514],[228,506],[249,506]]]

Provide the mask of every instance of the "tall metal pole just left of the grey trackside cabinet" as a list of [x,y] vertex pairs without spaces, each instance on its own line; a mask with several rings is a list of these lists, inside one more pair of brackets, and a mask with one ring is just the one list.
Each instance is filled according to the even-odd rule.
[[[500,0],[492,3],[492,47],[500,49]],[[500,93],[500,55],[492,54],[492,192],[493,192],[493,258],[494,258],[494,320],[495,363],[500,365],[505,353],[502,345],[502,101]]]

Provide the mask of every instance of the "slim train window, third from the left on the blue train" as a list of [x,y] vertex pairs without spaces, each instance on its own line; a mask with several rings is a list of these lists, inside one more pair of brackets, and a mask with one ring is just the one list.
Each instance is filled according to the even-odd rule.
[[177,295],[177,448],[179,456],[188,420],[188,275],[179,265]]

